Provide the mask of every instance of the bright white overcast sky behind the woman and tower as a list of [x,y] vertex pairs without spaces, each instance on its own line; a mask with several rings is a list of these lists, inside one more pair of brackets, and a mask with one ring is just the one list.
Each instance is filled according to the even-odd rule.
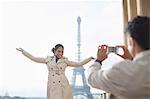
[[[77,61],[78,16],[81,60],[96,57],[101,44],[124,44],[121,0],[1,0],[0,9],[0,95],[46,96],[46,65],[32,62],[16,48],[47,57],[60,43],[65,47],[64,56]],[[110,54],[103,69],[121,60]],[[84,65],[85,75],[92,63]],[[69,81],[72,69],[68,67],[65,72]]]

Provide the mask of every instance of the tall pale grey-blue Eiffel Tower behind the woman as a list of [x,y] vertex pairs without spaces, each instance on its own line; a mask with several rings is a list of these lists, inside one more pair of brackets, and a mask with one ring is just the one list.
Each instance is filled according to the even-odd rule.
[[[78,62],[80,61],[80,23],[81,23],[81,18],[77,18],[78,22],[78,37],[77,37],[77,46],[78,46]],[[93,99],[93,96],[90,92],[90,87],[87,85],[85,74],[84,74],[85,69],[83,66],[76,67],[73,69],[73,77],[71,80],[71,87],[73,91],[73,96],[74,99]],[[79,80],[77,80],[79,79]],[[82,80],[82,85],[77,85],[77,81]]]

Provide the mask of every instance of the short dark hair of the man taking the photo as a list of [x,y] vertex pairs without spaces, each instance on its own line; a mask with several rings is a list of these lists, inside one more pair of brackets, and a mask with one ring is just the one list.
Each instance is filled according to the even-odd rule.
[[128,23],[127,32],[143,50],[150,49],[150,18],[136,16]]

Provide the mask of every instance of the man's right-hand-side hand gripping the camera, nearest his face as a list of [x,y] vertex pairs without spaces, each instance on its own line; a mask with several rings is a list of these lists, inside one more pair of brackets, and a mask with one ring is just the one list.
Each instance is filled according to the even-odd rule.
[[122,58],[124,58],[124,59],[129,59],[129,60],[132,60],[132,59],[133,59],[133,57],[132,57],[132,55],[130,54],[130,52],[129,52],[129,50],[127,49],[127,47],[121,46],[121,45],[118,45],[118,46],[116,46],[116,47],[122,48],[122,50],[123,50],[123,54],[122,54],[122,55],[121,55],[121,54],[117,54],[118,56],[120,56],[120,57],[122,57]]

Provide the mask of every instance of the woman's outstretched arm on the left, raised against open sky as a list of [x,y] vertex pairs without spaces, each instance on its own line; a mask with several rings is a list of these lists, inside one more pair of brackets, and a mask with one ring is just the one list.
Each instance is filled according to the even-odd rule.
[[24,56],[26,56],[27,58],[31,59],[34,62],[37,62],[37,63],[46,63],[46,58],[34,57],[33,55],[31,55],[27,51],[23,50],[22,48],[16,48],[16,50],[22,52],[22,54]]

